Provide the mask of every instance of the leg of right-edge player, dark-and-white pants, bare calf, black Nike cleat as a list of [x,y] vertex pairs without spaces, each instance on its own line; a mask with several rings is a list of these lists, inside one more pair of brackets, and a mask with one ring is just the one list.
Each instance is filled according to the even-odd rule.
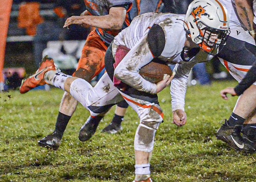
[[[240,81],[245,76],[246,72],[251,68],[252,64],[256,61],[255,54],[255,45],[235,39],[233,37],[228,37],[225,47],[218,54],[218,56],[222,58],[221,62],[227,68],[229,73],[235,79]],[[239,97],[237,104],[229,117],[229,120],[226,120],[221,128],[219,128],[217,131],[218,139],[227,142],[236,149],[242,149],[243,142],[240,140],[241,137],[239,129],[241,129],[241,127],[237,126],[236,129],[233,130],[234,126],[242,125],[246,117],[255,108],[255,93],[256,87],[254,85],[251,86],[250,89],[247,89],[247,92],[244,92],[244,94]],[[234,140],[236,140],[236,142],[234,142]]]

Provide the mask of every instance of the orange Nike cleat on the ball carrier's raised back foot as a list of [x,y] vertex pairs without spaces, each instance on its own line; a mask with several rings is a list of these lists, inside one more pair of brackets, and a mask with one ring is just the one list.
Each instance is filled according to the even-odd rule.
[[48,56],[44,56],[37,72],[35,72],[35,74],[31,75],[30,77],[22,80],[22,84],[19,88],[19,92],[23,94],[35,87],[47,84],[43,78],[44,78],[44,74],[50,70],[56,70],[54,61],[52,58],[48,58]]

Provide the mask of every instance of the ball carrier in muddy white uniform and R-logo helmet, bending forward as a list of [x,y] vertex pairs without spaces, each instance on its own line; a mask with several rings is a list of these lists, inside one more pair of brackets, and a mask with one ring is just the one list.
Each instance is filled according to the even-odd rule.
[[[61,88],[87,108],[90,117],[104,115],[111,106],[125,99],[140,118],[134,138],[134,181],[150,182],[154,136],[163,120],[157,93],[169,85],[173,75],[153,84],[139,74],[140,68],[154,58],[166,64],[178,63],[171,84],[173,121],[178,126],[184,125],[189,71],[199,60],[216,55],[228,33],[229,16],[222,3],[195,0],[189,5],[186,16],[147,13],[134,18],[109,46],[105,55],[107,73],[94,88],[84,79],[55,70],[53,60],[46,58],[21,87],[31,89],[31,85],[48,83]],[[96,131],[99,123],[92,122],[90,117],[81,128],[80,140],[89,140]]]

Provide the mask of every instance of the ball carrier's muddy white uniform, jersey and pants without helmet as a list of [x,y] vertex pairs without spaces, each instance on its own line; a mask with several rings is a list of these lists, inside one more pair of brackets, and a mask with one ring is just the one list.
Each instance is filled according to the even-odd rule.
[[[171,84],[172,107],[174,110],[184,110],[186,84],[183,83],[186,83],[189,71],[199,60],[184,58],[184,18],[185,15],[169,13],[146,13],[137,16],[127,29],[115,37],[108,48],[105,55],[107,74],[101,77],[97,85],[92,88],[85,80],[76,79],[70,86],[71,95],[90,111],[91,116],[104,113],[112,105],[125,99],[140,117],[134,140],[136,150],[153,150],[154,135],[163,119],[157,100],[156,84],[139,75],[141,67],[154,58],[167,64],[179,63]],[[198,52],[199,48],[195,48],[189,55],[205,56],[201,51]],[[114,69],[113,63],[117,63],[115,59],[118,57],[124,58]],[[117,88],[114,86],[113,75],[127,85],[125,89],[120,85]]]

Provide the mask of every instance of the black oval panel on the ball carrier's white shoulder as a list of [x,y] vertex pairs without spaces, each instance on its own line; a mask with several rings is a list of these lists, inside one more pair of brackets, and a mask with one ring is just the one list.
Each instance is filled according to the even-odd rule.
[[154,24],[147,34],[148,46],[154,57],[162,54],[165,48],[165,32],[160,25]]

